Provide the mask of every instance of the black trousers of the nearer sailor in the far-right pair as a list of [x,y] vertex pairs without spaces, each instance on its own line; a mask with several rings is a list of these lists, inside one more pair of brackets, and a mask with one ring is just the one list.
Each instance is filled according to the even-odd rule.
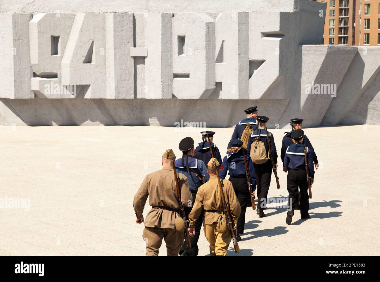
[[287,184],[289,200],[291,198],[292,201],[291,210],[294,211],[296,202],[299,201],[301,217],[306,217],[309,215],[309,194],[307,194],[306,170],[289,170]]

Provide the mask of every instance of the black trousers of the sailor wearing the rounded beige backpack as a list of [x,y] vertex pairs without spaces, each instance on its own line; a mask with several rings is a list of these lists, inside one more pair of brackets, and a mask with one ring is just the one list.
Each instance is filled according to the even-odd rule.
[[253,164],[256,173],[257,185],[257,198],[258,205],[257,209],[264,210],[266,208],[266,198],[268,197],[269,186],[271,185],[271,176],[272,176],[272,162],[268,160],[266,163],[260,165]]

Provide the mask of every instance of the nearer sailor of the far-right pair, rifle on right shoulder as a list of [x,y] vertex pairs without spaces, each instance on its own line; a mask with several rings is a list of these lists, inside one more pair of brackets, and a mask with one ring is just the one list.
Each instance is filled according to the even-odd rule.
[[289,192],[289,200],[291,200],[291,210],[288,211],[286,217],[287,224],[291,224],[291,220],[294,215],[294,210],[296,209],[296,203],[298,200],[301,209],[301,219],[310,218],[309,195],[307,194],[307,179],[304,155],[305,148],[311,184],[314,183],[312,151],[307,146],[305,147],[305,145],[302,144],[304,131],[302,129],[294,130],[291,133],[291,137],[296,141],[296,143],[288,146],[284,158],[285,168],[288,171],[287,187]]

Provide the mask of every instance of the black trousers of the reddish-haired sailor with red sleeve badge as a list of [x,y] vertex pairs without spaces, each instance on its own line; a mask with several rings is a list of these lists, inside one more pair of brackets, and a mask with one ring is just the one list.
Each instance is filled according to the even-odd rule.
[[245,177],[230,177],[228,179],[231,181],[234,187],[237,200],[241,206],[241,213],[237,219],[237,233],[244,234],[244,224],[245,224],[245,211],[247,209],[247,204],[251,203],[251,196],[249,195],[249,190],[247,186],[247,178]]

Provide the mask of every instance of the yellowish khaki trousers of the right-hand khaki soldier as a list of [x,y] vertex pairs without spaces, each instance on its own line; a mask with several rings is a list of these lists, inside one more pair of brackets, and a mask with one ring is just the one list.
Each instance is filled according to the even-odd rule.
[[231,233],[227,230],[224,233],[218,232],[218,223],[204,225],[204,236],[210,243],[210,252],[216,255],[226,255],[231,242]]

